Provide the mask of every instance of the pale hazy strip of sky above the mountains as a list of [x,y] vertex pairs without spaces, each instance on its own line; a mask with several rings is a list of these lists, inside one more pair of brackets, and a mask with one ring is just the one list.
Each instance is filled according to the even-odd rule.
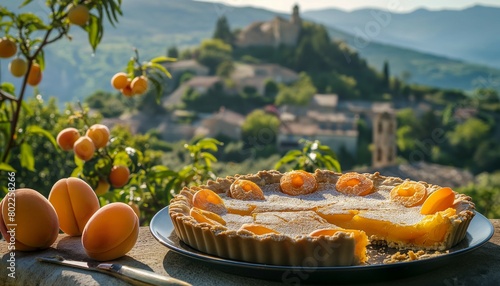
[[408,12],[418,8],[430,10],[463,9],[477,4],[500,7],[499,0],[203,0],[232,6],[254,6],[274,11],[288,12],[293,4],[302,11],[322,8],[355,10],[364,7],[389,9],[392,12]]

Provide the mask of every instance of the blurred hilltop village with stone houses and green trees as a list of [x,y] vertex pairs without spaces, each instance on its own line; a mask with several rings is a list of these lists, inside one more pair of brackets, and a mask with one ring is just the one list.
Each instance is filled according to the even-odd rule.
[[[412,152],[397,142],[399,111],[434,118],[445,106],[427,98],[463,94],[406,85],[390,75],[388,64],[377,71],[321,26],[303,21],[298,6],[288,19],[276,16],[235,31],[221,18],[213,39],[199,48],[173,47],[169,56],[178,60],[165,64],[172,78],[159,106],[145,101],[143,112],[105,118],[105,124],[126,122],[134,133],[154,129],[171,142],[213,137],[242,141],[244,148],[271,145],[280,154],[299,148],[301,139],[319,140],[347,169],[446,185],[473,179],[468,171],[426,163],[432,161],[432,146]],[[476,113],[458,107],[451,118],[464,122]],[[264,121],[260,133],[248,131],[249,118],[255,117]]]

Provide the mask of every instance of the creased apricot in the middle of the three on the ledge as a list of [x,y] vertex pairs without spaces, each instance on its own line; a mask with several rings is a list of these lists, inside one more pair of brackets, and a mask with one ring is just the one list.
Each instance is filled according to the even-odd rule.
[[57,181],[50,190],[49,202],[59,217],[59,228],[70,236],[81,235],[87,221],[99,209],[94,190],[80,178]]

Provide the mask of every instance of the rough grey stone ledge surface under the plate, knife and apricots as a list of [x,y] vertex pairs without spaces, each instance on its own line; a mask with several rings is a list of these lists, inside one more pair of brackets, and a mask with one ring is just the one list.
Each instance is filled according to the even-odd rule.
[[[387,277],[382,279],[378,277],[375,283],[355,285],[500,285],[500,220],[490,221],[495,228],[495,234],[476,250],[449,259],[444,265],[426,270],[421,274],[394,279],[392,273],[396,275],[405,271],[404,268],[394,268]],[[60,255],[68,259],[91,261],[86,256],[78,237],[61,234],[47,250],[16,252],[15,278],[8,276],[7,259],[10,253],[5,241],[0,242],[0,255],[0,285],[129,285],[106,274],[41,263],[36,260],[37,257]],[[152,236],[148,227],[141,227],[135,247],[116,262],[170,275],[193,285],[310,284],[302,280],[302,277],[307,276],[305,272],[293,277],[280,275],[276,277],[277,281],[270,281],[255,278],[259,272],[253,272],[254,277],[245,277],[214,269],[211,264],[169,250]],[[369,273],[354,275],[369,275]],[[331,282],[328,284],[334,285],[335,275],[330,276],[332,277],[328,279],[331,279],[329,280]]]

